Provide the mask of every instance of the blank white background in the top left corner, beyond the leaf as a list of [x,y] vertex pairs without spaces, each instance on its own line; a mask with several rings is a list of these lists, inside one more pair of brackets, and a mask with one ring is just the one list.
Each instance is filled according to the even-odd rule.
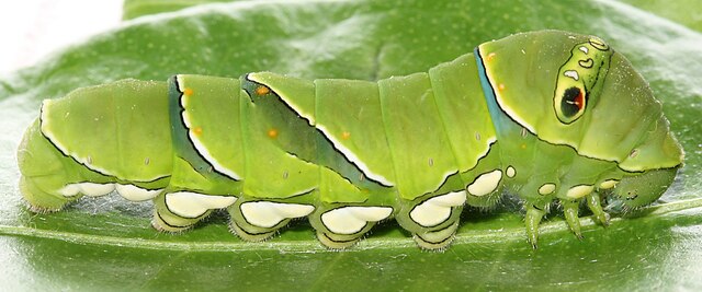
[[0,1],[0,74],[116,26],[122,0]]

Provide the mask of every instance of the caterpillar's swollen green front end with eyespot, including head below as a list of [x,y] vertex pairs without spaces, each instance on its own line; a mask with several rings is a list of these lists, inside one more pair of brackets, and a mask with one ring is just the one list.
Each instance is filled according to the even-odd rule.
[[543,141],[615,162],[625,173],[615,190],[630,198],[625,205],[645,205],[665,190],[644,180],[670,185],[682,149],[648,83],[602,39],[542,31],[476,51],[497,107]]

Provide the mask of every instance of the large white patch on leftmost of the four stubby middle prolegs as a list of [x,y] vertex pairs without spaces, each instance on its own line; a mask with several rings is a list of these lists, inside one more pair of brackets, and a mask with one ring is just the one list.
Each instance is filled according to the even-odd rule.
[[166,194],[166,207],[177,215],[197,218],[210,209],[227,208],[237,200],[230,196],[211,196],[190,191]]

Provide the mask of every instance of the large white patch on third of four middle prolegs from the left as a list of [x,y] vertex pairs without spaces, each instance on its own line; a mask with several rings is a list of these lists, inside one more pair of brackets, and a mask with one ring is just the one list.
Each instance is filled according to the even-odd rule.
[[390,207],[341,207],[321,214],[321,223],[336,234],[354,234],[367,222],[381,221],[392,213]]

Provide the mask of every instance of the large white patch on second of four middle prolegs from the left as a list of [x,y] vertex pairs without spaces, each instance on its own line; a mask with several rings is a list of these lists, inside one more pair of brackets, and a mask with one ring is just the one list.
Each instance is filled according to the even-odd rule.
[[270,229],[285,219],[306,217],[315,210],[315,207],[302,203],[249,201],[241,203],[240,209],[241,215],[251,225]]

